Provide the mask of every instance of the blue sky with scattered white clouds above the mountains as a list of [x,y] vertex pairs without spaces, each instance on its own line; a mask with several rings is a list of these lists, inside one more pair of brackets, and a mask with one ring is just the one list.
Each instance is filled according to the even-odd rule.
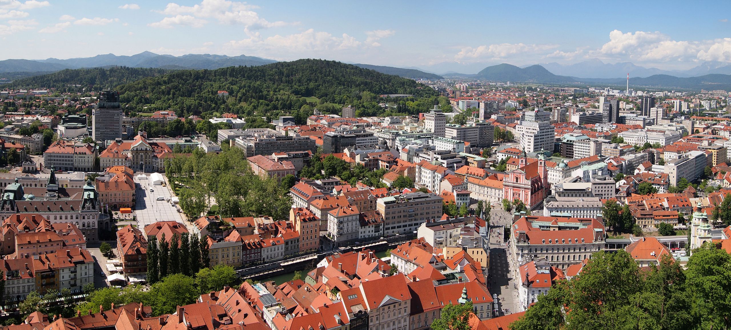
[[731,64],[731,1],[0,0],[0,60],[211,53],[387,66]]

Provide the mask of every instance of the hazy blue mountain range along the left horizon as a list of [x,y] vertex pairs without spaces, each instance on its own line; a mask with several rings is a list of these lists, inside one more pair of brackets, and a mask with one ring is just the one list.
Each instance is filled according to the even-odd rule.
[[225,66],[259,66],[276,61],[255,56],[188,54],[181,56],[143,52],[132,56],[103,54],[88,58],[0,61],[0,72],[53,72],[63,69],[130,66],[162,69],[218,69]]

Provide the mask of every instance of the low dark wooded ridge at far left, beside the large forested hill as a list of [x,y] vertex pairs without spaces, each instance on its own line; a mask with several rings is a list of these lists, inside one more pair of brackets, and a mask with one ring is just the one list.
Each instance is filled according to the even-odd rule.
[[65,69],[50,74],[42,74],[15,80],[4,85],[10,88],[56,88],[59,91],[67,90],[68,85],[81,85],[91,88],[92,91],[102,91],[105,88],[133,82],[145,77],[157,77],[166,74],[166,69],[130,68],[128,66],[111,66],[94,69]]

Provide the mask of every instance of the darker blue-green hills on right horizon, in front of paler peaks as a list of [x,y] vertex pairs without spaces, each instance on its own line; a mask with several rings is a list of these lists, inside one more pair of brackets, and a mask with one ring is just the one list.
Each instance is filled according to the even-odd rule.
[[[488,66],[477,74],[470,74],[480,80],[537,82],[569,85],[613,85],[624,86],[625,78],[579,78],[553,74],[543,66],[532,65],[520,68],[511,64]],[[630,87],[641,88],[683,88],[692,90],[722,89],[731,91],[731,75],[704,74],[698,77],[675,77],[669,74],[653,74],[650,77],[629,77]]]

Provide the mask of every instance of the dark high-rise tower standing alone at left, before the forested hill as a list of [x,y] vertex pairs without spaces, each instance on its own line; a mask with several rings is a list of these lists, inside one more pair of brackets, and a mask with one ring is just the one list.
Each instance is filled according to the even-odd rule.
[[117,91],[102,91],[91,112],[91,137],[96,141],[122,138],[122,110]]

